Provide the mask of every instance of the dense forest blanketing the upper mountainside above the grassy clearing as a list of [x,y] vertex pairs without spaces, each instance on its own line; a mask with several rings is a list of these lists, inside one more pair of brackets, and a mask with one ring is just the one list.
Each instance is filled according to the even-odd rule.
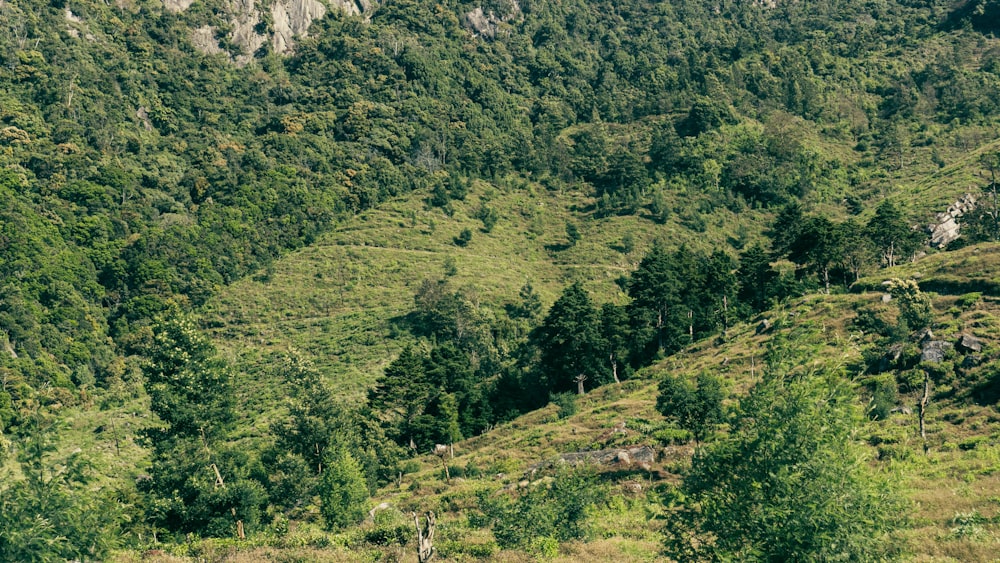
[[[293,57],[263,49],[241,68],[190,45],[224,24],[216,10],[83,3],[87,41],[62,5],[6,2],[0,315],[19,358],[2,361],[25,393],[72,402],[113,379],[107,337],[126,343],[345,214],[412,190],[447,207],[470,178],[582,182],[603,212],[660,220],[668,186],[740,209],[844,190],[848,164],[789,124],[836,124],[889,166],[916,122],[988,124],[1000,99],[1000,58],[975,31],[933,65],[851,71],[948,16],[911,4],[536,2],[489,40],[409,0],[334,11]],[[982,29],[994,9],[955,14]]]

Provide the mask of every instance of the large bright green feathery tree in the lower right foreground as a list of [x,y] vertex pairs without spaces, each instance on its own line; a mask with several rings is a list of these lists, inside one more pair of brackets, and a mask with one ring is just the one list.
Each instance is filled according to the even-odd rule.
[[900,502],[854,438],[854,401],[834,375],[766,374],[740,401],[729,438],[695,455],[668,553],[689,561],[887,555]]

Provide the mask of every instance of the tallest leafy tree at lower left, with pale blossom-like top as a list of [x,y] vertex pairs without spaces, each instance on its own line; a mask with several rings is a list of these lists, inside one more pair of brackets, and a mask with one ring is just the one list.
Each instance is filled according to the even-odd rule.
[[186,317],[157,322],[140,352],[150,408],[165,423],[149,432],[147,517],[168,532],[253,530],[267,495],[258,462],[228,441],[236,420],[228,367]]

